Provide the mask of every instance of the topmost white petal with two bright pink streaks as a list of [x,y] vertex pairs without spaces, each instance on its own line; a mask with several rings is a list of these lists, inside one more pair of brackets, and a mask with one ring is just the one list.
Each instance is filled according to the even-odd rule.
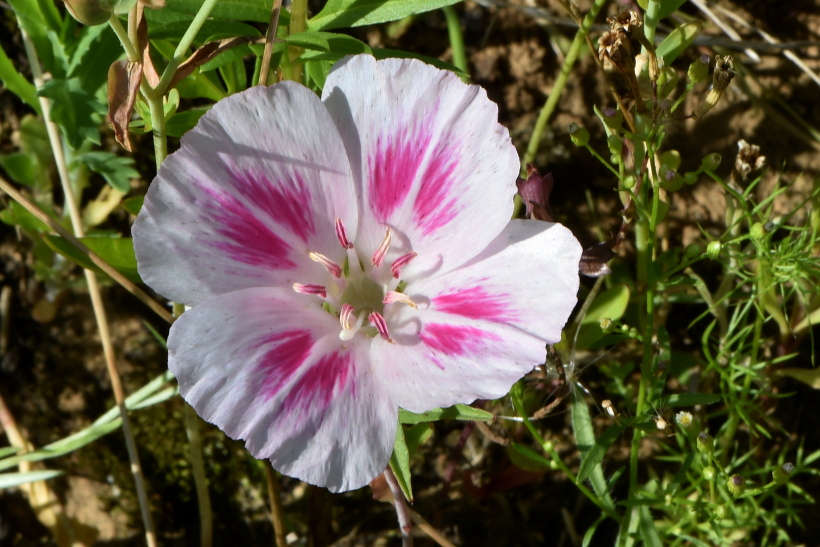
[[389,226],[388,261],[418,253],[403,278],[449,271],[507,224],[518,157],[483,89],[415,59],[362,55],[335,65],[322,101],[362,195],[365,256]]

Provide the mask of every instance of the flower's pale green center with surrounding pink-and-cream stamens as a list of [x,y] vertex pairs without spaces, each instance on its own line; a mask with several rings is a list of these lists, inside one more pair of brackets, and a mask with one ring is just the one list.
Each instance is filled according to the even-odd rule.
[[325,267],[334,281],[328,286],[294,283],[294,290],[301,294],[313,294],[324,300],[323,308],[339,317],[341,340],[351,340],[358,332],[362,332],[370,338],[380,335],[393,343],[385,321],[385,306],[402,303],[416,307],[412,299],[396,290],[401,282],[402,268],[416,258],[416,253],[405,253],[388,267],[384,262],[391,240],[388,228],[385,239],[373,253],[371,263],[362,269],[356,248],[348,239],[347,231],[339,218],[336,219],[335,229],[339,244],[348,253],[347,273],[325,255],[309,252],[311,260]]

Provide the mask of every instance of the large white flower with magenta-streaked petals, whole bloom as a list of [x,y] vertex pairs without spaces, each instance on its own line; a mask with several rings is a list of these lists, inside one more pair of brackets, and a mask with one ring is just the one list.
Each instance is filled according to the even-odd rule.
[[384,471],[399,407],[503,396],[561,338],[581,257],[509,220],[518,168],[485,91],[416,60],[217,103],[133,228],[143,280],[193,306],[168,338],[180,393],[333,491]]

